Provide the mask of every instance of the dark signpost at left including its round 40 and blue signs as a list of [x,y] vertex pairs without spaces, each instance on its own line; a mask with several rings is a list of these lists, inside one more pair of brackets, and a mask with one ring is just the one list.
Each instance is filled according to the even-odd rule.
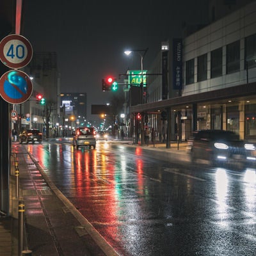
[[[2,32],[2,35],[7,35],[0,42],[0,60],[3,63],[0,63],[0,120],[3,120],[2,125],[0,125],[0,211],[8,214],[10,211],[9,173],[11,154],[11,111],[8,103],[21,104],[31,96],[33,88],[31,79],[26,73],[17,70],[17,68],[28,65],[33,54],[31,44],[24,36],[8,35],[10,31],[0,32]],[[8,71],[9,68],[15,69]],[[6,145],[8,145],[7,148]]]

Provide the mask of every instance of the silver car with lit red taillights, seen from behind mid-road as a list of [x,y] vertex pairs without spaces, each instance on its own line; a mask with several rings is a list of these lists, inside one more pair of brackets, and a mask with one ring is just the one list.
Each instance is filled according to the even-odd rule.
[[96,147],[96,132],[93,127],[79,127],[74,132],[73,146],[77,149],[79,146]]

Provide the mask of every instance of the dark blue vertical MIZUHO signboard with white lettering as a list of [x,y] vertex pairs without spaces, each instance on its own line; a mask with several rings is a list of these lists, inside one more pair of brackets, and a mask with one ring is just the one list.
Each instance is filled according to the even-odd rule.
[[182,90],[182,39],[173,39],[173,89]]

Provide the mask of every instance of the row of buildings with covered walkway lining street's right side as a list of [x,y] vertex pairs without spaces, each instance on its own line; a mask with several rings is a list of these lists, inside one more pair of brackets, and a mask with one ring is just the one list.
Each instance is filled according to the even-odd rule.
[[[179,90],[173,42],[168,99],[163,98],[163,77],[150,79],[148,103],[131,106],[131,112],[147,113],[145,125],[154,127],[159,139],[188,140],[196,129],[224,129],[256,140],[256,1],[183,38]],[[162,53],[150,72],[163,72]]]

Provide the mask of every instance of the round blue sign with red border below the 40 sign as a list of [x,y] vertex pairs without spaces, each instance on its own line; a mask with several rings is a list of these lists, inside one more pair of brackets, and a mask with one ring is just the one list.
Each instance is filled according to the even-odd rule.
[[25,102],[31,96],[33,84],[30,77],[20,70],[10,70],[0,78],[0,95],[12,104]]

